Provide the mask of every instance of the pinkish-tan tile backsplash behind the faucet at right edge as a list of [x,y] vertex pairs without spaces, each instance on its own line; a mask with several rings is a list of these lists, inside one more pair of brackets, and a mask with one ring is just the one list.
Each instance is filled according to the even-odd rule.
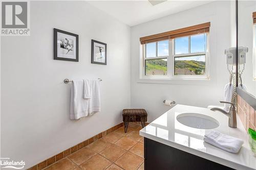
[[241,96],[238,95],[237,113],[244,128],[248,132],[248,128],[255,130],[256,126],[256,110],[246,103]]

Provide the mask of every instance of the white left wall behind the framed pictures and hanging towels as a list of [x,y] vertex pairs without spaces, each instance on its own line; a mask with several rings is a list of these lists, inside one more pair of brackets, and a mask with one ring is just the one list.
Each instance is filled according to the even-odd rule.
[[[79,35],[79,62],[53,60],[53,28]],[[31,2],[31,36],[1,38],[1,157],[26,168],[122,122],[130,107],[130,27],[84,1]],[[91,39],[108,65],[91,64]],[[102,78],[102,111],[69,119],[71,84]]]

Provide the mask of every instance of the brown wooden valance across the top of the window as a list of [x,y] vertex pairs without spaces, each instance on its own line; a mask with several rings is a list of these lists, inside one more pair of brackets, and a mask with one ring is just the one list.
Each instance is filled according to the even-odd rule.
[[210,22],[206,22],[206,23],[201,23],[199,25],[190,26],[190,27],[186,27],[178,30],[140,37],[140,43],[145,44],[149,42],[162,41],[166,39],[174,39],[174,38],[185,37],[189,35],[208,33],[209,31],[210,31]]

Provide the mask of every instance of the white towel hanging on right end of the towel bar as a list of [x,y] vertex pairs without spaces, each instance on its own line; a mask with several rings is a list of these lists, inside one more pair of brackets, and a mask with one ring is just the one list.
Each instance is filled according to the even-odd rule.
[[89,99],[89,115],[100,112],[99,80],[91,80],[91,99]]

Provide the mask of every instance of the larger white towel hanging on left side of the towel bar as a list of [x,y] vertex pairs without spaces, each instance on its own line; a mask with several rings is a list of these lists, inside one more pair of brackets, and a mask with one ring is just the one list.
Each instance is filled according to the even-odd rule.
[[71,86],[70,119],[88,116],[88,99],[83,99],[83,80],[73,80]]

